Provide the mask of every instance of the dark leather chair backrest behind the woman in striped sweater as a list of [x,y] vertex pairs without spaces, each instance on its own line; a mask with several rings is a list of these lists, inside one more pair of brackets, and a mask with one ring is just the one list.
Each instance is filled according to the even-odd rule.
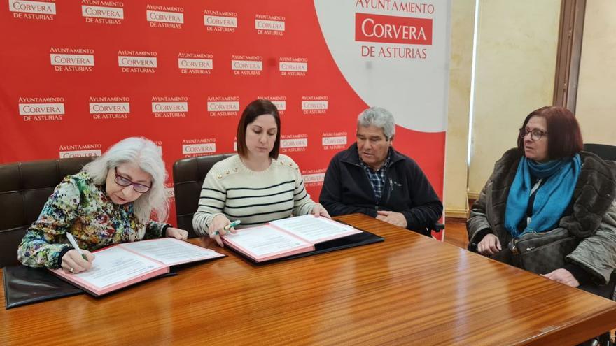
[[174,164],[174,192],[178,227],[188,231],[188,237],[197,236],[193,230],[193,215],[197,212],[205,175],[218,161],[235,154],[218,154],[181,159]]

